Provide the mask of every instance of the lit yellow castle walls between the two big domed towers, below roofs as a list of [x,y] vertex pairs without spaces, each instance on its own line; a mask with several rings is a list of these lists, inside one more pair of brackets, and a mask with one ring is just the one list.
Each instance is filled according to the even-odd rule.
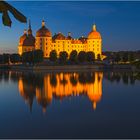
[[92,51],[95,53],[95,58],[97,58],[98,54],[102,54],[101,44],[101,39],[90,39],[87,40],[87,43],[80,41],[75,43],[73,40],[55,40],[52,42],[51,38],[36,38],[36,49],[42,49],[44,57],[49,57],[52,50],[56,50],[57,56],[61,51],[66,51],[69,56],[73,50],[76,50],[78,53],[80,51]]

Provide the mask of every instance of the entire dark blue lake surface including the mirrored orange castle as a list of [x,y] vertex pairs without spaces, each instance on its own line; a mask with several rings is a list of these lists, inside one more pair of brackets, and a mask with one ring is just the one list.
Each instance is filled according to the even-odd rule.
[[0,71],[0,138],[140,138],[140,73]]

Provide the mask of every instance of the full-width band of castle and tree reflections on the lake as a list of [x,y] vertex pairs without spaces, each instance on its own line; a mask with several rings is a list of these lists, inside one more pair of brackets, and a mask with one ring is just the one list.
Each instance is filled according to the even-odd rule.
[[140,80],[138,72],[79,72],[79,73],[28,73],[0,71],[2,81],[18,84],[18,90],[32,111],[33,101],[42,106],[43,112],[55,100],[65,97],[85,96],[95,110],[102,98],[103,78],[111,83],[134,85]]

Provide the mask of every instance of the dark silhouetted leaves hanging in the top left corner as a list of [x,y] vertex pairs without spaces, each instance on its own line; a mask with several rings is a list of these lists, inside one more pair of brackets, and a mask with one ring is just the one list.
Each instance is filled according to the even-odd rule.
[[10,12],[18,21],[23,23],[27,22],[26,17],[17,9],[15,9],[13,6],[11,6],[5,1],[0,1],[0,13],[2,13],[2,21],[5,26],[11,26],[12,24],[8,12]]

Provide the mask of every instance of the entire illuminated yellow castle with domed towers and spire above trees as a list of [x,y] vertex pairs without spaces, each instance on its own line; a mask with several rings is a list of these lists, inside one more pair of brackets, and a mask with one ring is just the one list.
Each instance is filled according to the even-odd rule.
[[77,53],[80,51],[91,51],[95,54],[95,59],[98,57],[103,60],[105,58],[102,55],[102,37],[96,30],[96,25],[93,25],[92,31],[87,37],[80,37],[74,39],[71,33],[68,36],[64,36],[61,32],[52,36],[52,33],[45,26],[45,21],[42,21],[42,27],[36,32],[36,37],[32,35],[31,24],[29,22],[28,31],[24,31],[24,34],[20,37],[18,45],[18,53],[22,55],[24,52],[41,49],[44,57],[48,58],[52,50],[56,50],[57,55],[61,51],[66,51],[68,56],[73,50]]

